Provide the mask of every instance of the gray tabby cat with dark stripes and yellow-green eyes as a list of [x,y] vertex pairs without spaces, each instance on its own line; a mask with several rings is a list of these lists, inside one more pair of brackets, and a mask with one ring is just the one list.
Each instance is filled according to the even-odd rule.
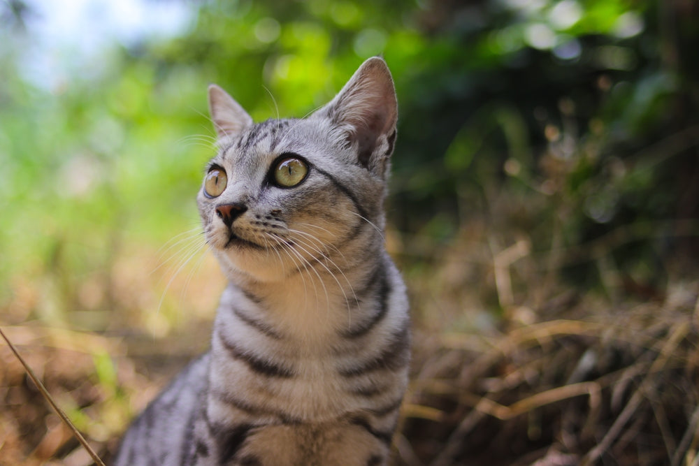
[[116,465],[383,465],[408,381],[384,249],[396,93],[371,58],[304,119],[254,124],[209,87],[219,152],[197,201],[229,286],[210,351],[134,421]]

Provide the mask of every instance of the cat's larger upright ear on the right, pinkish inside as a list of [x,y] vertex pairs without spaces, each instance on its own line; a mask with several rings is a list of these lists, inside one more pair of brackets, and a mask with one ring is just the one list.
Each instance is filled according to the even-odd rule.
[[340,137],[356,150],[362,166],[386,176],[396,141],[398,102],[391,72],[382,58],[364,61],[317,115],[331,120]]

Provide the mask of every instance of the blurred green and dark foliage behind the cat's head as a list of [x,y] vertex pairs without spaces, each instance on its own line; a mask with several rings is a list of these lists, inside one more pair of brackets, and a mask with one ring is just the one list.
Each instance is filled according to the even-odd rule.
[[698,214],[698,36],[682,6],[208,1],[183,36],[115,45],[101,71],[37,88],[18,65],[31,43],[22,9],[2,5],[15,23],[0,37],[0,305],[34,277],[47,296],[32,312],[60,320],[50,309],[80,309],[75,289],[108,282],[125,244],[156,247],[196,224],[209,82],[255,119],[303,116],[373,54],[401,103],[400,231],[448,240],[479,210],[496,222],[512,214],[482,209],[496,192],[542,206],[520,226],[539,250],[557,224],[575,245]]

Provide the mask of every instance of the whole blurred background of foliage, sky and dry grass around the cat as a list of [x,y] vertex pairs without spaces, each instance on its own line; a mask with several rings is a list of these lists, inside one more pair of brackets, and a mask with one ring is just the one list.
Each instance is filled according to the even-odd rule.
[[[696,50],[691,0],[2,0],[0,325],[110,458],[224,287],[207,85],[300,117],[380,54],[396,463],[697,465]],[[91,464],[0,359],[0,465]]]

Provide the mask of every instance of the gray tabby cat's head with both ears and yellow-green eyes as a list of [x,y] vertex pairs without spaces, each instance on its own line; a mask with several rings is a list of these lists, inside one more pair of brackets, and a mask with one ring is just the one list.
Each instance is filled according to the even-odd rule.
[[303,119],[254,124],[216,85],[209,108],[219,152],[197,202],[224,270],[271,281],[351,242],[376,242],[397,119],[382,59],[365,61],[332,101]]

